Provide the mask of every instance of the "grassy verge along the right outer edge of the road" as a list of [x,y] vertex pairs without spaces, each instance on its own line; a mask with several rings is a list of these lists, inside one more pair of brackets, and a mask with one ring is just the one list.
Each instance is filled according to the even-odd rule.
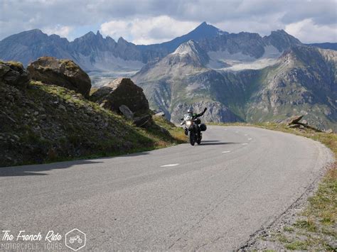
[[[319,133],[311,130],[289,128],[285,124],[220,124],[223,126],[257,126],[275,131],[293,133],[323,143],[335,154],[337,160],[337,133]],[[289,250],[336,250],[337,241],[337,161],[326,171],[314,196],[296,221],[259,239],[276,243]],[[334,241],[334,243],[333,243]]]

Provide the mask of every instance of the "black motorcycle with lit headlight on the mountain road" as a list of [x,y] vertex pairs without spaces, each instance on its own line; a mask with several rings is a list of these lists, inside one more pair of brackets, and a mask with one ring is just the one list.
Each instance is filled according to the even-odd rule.
[[195,143],[200,145],[201,139],[203,138],[203,133],[201,133],[201,131],[206,130],[206,125],[201,124],[201,120],[198,118],[193,119],[191,114],[185,114],[181,120],[183,120],[181,126],[185,126],[185,135],[188,136],[191,146],[194,146]]

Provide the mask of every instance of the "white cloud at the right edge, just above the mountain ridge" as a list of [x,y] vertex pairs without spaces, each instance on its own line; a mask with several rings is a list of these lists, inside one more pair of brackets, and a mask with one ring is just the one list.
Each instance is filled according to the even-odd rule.
[[303,43],[320,43],[320,42],[336,42],[337,26],[333,24],[318,25],[311,18],[303,21],[290,23],[286,26],[285,31],[301,40]]

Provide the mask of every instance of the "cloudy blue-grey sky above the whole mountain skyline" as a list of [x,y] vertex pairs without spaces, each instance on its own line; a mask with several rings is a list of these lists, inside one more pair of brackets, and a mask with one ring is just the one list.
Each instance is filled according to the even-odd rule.
[[0,0],[0,40],[39,28],[69,40],[99,30],[160,43],[203,21],[230,33],[284,29],[304,43],[337,42],[337,0]]

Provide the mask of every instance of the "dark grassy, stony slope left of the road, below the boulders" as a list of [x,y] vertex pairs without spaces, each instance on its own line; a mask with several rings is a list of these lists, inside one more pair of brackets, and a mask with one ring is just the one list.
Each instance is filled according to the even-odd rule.
[[[164,120],[137,128],[62,87],[31,82],[28,89],[0,83],[0,167],[120,155],[181,143],[182,129]],[[177,138],[174,138],[177,136]]]

